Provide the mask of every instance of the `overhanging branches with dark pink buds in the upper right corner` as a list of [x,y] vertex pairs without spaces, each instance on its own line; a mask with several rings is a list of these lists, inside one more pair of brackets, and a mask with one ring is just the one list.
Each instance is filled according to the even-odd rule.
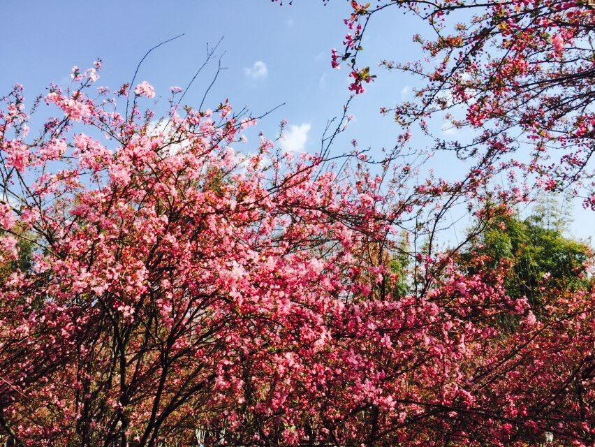
[[[423,58],[402,61],[387,54],[380,66],[412,75],[419,84],[413,100],[381,112],[392,114],[404,133],[419,124],[438,149],[462,159],[498,154],[540,189],[569,189],[584,198],[585,207],[594,206],[592,2],[348,3],[343,49],[332,50],[331,64],[349,67],[354,94],[363,93],[378,71],[361,63],[369,24],[391,11],[397,20],[397,9],[404,10],[427,24],[413,36]],[[433,130],[436,122],[469,129],[473,138],[445,139]]]

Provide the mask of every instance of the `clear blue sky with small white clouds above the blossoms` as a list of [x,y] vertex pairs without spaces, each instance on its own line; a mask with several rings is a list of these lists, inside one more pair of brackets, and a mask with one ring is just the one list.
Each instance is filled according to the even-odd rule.
[[[138,80],[148,80],[158,96],[166,98],[168,87],[184,87],[192,78],[205,59],[207,43],[223,36],[220,48],[226,52],[227,70],[207,103],[216,106],[230,98],[235,108],[247,105],[255,115],[286,103],[258,128],[273,137],[286,118],[290,134],[295,126],[288,144],[315,150],[325,123],[341,112],[348,96],[346,69],[330,68],[330,48],[340,47],[346,32],[342,19],[348,10],[344,0],[331,0],[327,6],[319,0],[298,0],[283,7],[270,0],[4,2],[4,22],[11,25],[0,29],[0,90],[20,82],[32,99],[49,82],[66,82],[72,66],[87,68],[97,57],[103,59],[98,84],[117,87],[131,79],[149,47],[184,33],[154,51],[138,75]],[[375,66],[382,57],[418,59],[419,49],[411,36],[422,29],[420,22],[397,10],[378,15],[363,43],[362,61]],[[197,78],[184,102],[200,103],[213,70],[214,65]],[[409,95],[415,80],[380,68],[376,71],[381,76],[355,101],[355,122],[337,141],[336,153],[347,148],[352,138],[374,150],[395,143],[399,129],[390,117],[379,116],[379,108]],[[461,170],[446,155],[439,155],[434,163],[436,172],[448,177]],[[595,213],[575,208],[572,233],[594,235]]]

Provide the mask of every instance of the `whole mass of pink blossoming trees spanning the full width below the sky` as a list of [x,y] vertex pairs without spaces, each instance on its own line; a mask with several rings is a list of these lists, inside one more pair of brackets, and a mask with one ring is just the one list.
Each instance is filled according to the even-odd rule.
[[413,268],[390,269],[408,221],[432,231],[460,196],[478,230],[501,212],[489,173],[407,186],[395,159],[323,169],[262,135],[238,152],[255,117],[173,87],[158,119],[149,82],[94,94],[100,68],[50,87],[59,116],[33,137],[22,86],[3,98],[9,444],[592,444],[591,291],[537,319],[480,253],[404,249]]

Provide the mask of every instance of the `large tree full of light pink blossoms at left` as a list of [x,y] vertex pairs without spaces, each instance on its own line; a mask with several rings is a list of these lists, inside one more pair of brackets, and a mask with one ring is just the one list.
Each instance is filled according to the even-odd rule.
[[159,120],[146,81],[91,98],[100,68],[50,88],[32,139],[22,86],[4,98],[2,261],[34,249],[1,286],[0,422],[16,445],[187,444],[221,411],[233,431],[240,366],[319,355],[386,221],[315,156],[235,152],[257,118],[228,101],[181,110],[172,87]]

